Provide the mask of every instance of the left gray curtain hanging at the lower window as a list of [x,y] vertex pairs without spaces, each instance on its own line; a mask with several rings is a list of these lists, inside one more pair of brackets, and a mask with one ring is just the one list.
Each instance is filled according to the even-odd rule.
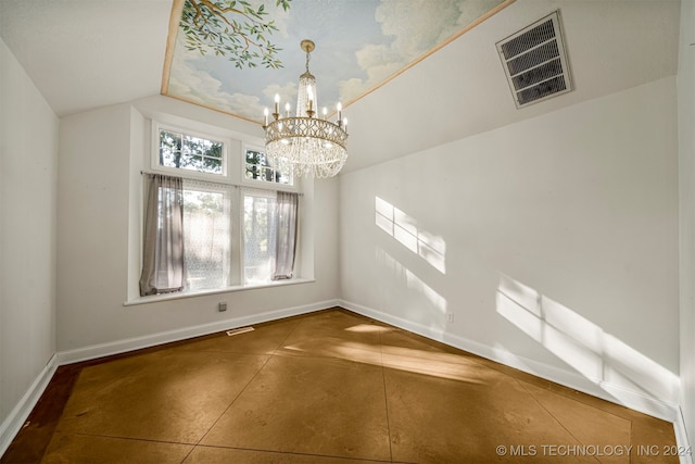
[[181,291],[184,185],[179,177],[149,174],[140,296]]

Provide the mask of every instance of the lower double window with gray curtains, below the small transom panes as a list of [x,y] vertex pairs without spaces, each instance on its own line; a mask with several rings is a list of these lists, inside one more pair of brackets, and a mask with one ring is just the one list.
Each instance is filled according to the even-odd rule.
[[[151,197],[154,202],[146,211],[146,224],[152,226],[146,228],[144,256],[151,256],[152,261],[143,263],[141,296],[224,289],[239,284],[252,286],[292,278],[296,248],[296,221],[292,218],[296,217],[298,193],[243,189],[240,196],[243,214],[237,215],[233,211],[239,196],[235,187],[189,179],[180,183],[179,179],[182,184],[179,190],[182,191],[180,225],[165,230],[163,224],[179,213],[172,213],[165,204],[168,197],[162,195],[163,187],[152,187],[154,178],[177,179],[150,176],[150,189],[160,191]],[[239,216],[243,251],[235,255],[232,218]],[[182,259],[173,263],[175,259],[168,253],[181,248],[172,246],[176,237],[182,240],[184,252]],[[148,247],[156,251],[150,252]],[[181,256],[180,252],[176,254]],[[241,278],[236,277],[235,265],[242,268]],[[182,268],[177,272],[178,283],[182,279],[182,285],[149,284],[157,278],[157,283],[168,283],[172,268]]]

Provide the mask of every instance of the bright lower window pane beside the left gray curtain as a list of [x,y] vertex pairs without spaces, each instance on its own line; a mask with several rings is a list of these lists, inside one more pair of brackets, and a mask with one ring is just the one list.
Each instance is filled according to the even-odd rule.
[[224,192],[186,188],[184,191],[184,247],[187,288],[228,285],[230,221]]

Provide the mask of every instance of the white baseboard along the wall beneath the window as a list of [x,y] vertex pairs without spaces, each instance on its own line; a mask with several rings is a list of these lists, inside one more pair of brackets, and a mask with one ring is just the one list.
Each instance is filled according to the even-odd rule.
[[94,360],[98,358],[111,356],[114,354],[126,353],[128,351],[155,347],[157,344],[169,343],[173,341],[186,340],[193,337],[201,337],[252,324],[261,324],[264,322],[280,319],[283,317],[307,314],[315,311],[333,308],[336,305],[338,305],[338,300],[326,300],[312,304],[304,304],[301,306],[266,311],[253,315],[232,317],[214,323],[201,324],[176,330],[162,331],[143,337],[135,337],[108,343],[93,344],[90,347],[78,348],[76,350],[60,351],[58,352],[58,363],[59,365],[65,365],[81,361]]

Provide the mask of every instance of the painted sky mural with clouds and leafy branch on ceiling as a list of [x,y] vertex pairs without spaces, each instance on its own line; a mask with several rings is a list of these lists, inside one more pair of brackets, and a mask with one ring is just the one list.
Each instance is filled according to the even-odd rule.
[[[317,108],[368,93],[493,14],[505,0],[177,0],[162,92],[262,122],[276,93],[296,104],[316,49]],[[182,4],[181,4],[182,3]],[[170,32],[172,34],[172,32]],[[173,50],[172,50],[173,49]]]

